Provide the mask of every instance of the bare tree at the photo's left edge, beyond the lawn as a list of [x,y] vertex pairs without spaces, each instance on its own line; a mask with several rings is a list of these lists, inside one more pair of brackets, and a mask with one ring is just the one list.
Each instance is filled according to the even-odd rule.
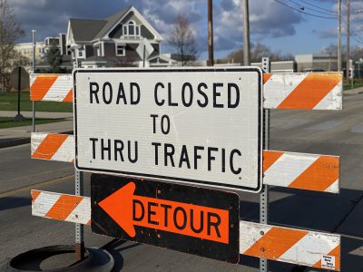
[[0,0],[0,90],[7,90],[15,59],[15,41],[24,34],[8,0]]

